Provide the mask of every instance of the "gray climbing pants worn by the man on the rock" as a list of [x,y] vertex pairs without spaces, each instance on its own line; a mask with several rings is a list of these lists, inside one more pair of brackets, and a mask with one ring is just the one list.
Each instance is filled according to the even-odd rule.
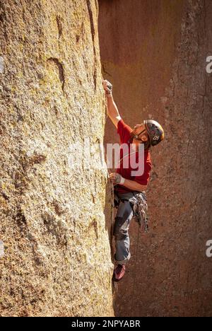
[[119,265],[125,265],[131,257],[128,233],[130,221],[134,216],[132,204],[128,200],[131,198],[134,198],[134,192],[119,194],[114,191],[114,204],[115,206],[118,205],[113,231],[116,243],[114,259]]

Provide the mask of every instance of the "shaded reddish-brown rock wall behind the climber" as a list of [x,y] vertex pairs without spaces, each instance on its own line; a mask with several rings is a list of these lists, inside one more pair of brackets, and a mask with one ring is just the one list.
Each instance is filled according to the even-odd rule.
[[[102,75],[131,126],[160,122],[148,187],[151,231],[131,223],[131,260],[115,284],[117,316],[212,315],[209,0],[99,0]],[[119,141],[110,120],[105,143]]]

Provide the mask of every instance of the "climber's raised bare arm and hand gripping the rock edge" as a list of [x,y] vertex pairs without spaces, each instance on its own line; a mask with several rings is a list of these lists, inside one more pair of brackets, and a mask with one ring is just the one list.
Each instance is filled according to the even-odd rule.
[[[122,117],[119,115],[119,110],[117,108],[117,105],[114,103],[113,97],[112,97],[112,88],[108,88],[107,85],[110,84],[109,81],[102,81],[102,85],[105,89],[105,95],[107,97],[107,114],[110,117],[110,120],[112,120],[115,127],[117,127],[119,120],[122,119]],[[110,84],[111,85],[111,84]]]

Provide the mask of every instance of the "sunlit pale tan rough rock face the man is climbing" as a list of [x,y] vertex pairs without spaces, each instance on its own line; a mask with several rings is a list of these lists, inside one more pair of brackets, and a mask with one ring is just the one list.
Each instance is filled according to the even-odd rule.
[[98,2],[1,0],[0,37],[0,314],[112,316]]

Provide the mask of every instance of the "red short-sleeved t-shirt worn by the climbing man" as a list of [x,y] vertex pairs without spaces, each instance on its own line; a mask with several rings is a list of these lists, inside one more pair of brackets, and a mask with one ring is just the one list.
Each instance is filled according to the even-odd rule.
[[[130,144],[132,142],[131,137],[130,137],[131,132],[132,132],[131,127],[129,127],[129,125],[125,124],[123,120],[119,120],[118,126],[117,126],[117,133],[120,136],[121,146],[122,146],[122,144],[127,144],[128,146],[130,146]],[[123,157],[123,150],[124,149],[120,150],[120,160]],[[128,150],[128,153],[129,153],[129,150]],[[124,155],[126,155],[128,153],[125,153]],[[138,161],[143,162],[143,158],[141,160],[139,160],[139,151],[137,151],[135,154],[136,154],[136,163],[138,163]],[[130,156],[126,156],[126,158],[130,158]],[[141,184],[141,185],[148,184],[148,180],[149,180],[150,172],[151,172],[151,168],[152,168],[151,156],[150,156],[148,149],[144,150],[143,175],[132,176],[131,171],[135,171],[136,168],[131,168],[130,162],[129,162],[129,167],[124,168],[123,161],[120,163],[119,168],[117,168],[116,173],[119,173],[120,175],[122,175],[123,178],[126,178],[128,180],[135,180],[136,182],[139,182],[139,184]],[[129,188],[124,187],[124,185],[117,185],[117,191],[119,193],[126,193],[126,192],[131,192],[133,190],[130,190]]]

